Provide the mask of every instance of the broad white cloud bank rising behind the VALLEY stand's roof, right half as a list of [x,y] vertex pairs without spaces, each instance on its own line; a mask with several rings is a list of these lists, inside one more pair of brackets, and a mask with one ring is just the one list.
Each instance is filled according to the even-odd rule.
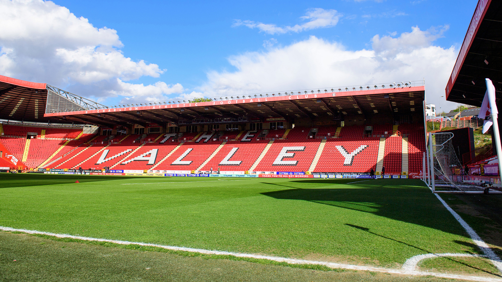
[[[286,47],[232,56],[228,61],[237,70],[209,72],[200,90],[206,96],[237,96],[425,78],[427,100],[438,104],[457,55],[454,47],[432,44],[444,30],[413,27],[399,37],[376,35],[372,50],[355,51],[312,36]],[[442,107],[453,105],[443,101]]]

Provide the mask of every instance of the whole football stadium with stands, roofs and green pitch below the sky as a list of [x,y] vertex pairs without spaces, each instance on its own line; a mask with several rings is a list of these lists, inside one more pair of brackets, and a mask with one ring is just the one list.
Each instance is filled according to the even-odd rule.
[[[499,11],[447,100],[502,83]],[[502,281],[496,150],[426,107],[423,80],[103,105],[0,75],[0,280]]]

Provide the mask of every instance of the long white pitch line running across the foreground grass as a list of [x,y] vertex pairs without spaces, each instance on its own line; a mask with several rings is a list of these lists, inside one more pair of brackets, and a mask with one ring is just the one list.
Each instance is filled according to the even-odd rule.
[[315,265],[324,265],[324,266],[327,266],[330,268],[343,268],[343,269],[350,269],[350,270],[363,270],[363,271],[385,272],[385,273],[402,274],[402,275],[417,275],[417,276],[432,275],[432,276],[441,277],[441,278],[463,279],[463,280],[480,281],[480,282],[502,282],[501,278],[459,275],[459,274],[450,274],[450,273],[437,273],[437,272],[429,272],[429,271],[416,271],[416,270],[397,269],[397,268],[374,267],[374,266],[354,265],[354,264],[317,261],[317,260],[305,260],[305,259],[287,258],[287,257],[280,257],[280,256],[268,256],[268,255],[250,254],[250,253],[239,253],[239,252],[215,251],[215,250],[176,247],[176,246],[165,246],[165,245],[142,243],[142,242],[130,242],[130,241],[121,241],[121,240],[109,240],[109,239],[102,239],[102,238],[84,237],[84,236],[74,236],[74,235],[68,235],[68,234],[56,234],[56,233],[42,232],[42,231],[37,231],[37,230],[16,229],[16,228],[12,228],[12,227],[4,227],[4,226],[0,226],[0,230],[10,231],[10,232],[23,232],[23,233],[28,233],[28,234],[41,234],[41,235],[54,236],[54,237],[58,237],[58,238],[72,238],[72,239],[78,239],[78,240],[84,240],[84,241],[97,241],[97,242],[109,242],[109,243],[115,243],[115,244],[121,244],[121,245],[140,245],[140,246],[146,246],[146,247],[157,247],[157,248],[163,248],[163,249],[174,250],[174,251],[187,251],[187,252],[197,252],[197,253],[203,253],[203,254],[231,255],[231,256],[235,256],[235,257],[267,259],[267,260],[286,262],[286,263],[291,263],[291,264],[315,264]]

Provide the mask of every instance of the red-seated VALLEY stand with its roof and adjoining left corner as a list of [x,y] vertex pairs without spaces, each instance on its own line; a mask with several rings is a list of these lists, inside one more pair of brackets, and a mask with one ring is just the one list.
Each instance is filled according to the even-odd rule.
[[4,151],[29,172],[423,177],[423,81],[104,106],[0,80]]

